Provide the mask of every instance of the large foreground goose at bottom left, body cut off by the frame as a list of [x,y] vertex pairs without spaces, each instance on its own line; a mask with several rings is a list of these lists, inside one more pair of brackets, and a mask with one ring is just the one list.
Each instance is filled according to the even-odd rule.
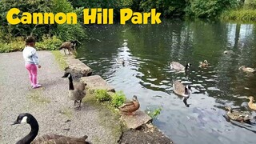
[[36,143],[55,143],[55,144],[65,144],[65,143],[89,143],[86,142],[87,135],[83,136],[82,138],[71,138],[66,137],[64,135],[57,135],[57,134],[44,134],[42,137],[36,138],[38,135],[38,121],[34,118],[32,114],[29,113],[22,113],[18,115],[16,121],[11,125],[21,124],[21,123],[28,123],[30,124],[31,130],[30,133],[27,134],[24,138],[20,139],[16,144],[36,144]]

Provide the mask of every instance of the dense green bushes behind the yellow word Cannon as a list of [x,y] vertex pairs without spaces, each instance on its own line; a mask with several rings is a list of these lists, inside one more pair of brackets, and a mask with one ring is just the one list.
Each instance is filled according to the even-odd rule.
[[[22,12],[29,13],[52,12],[56,14],[58,12],[81,12],[81,10],[74,10],[73,6],[67,0],[2,0],[0,1],[0,22],[2,24],[0,29],[4,34],[0,34],[0,37],[5,42],[10,42],[10,39],[14,37],[26,37],[31,34],[39,41],[42,40],[42,36],[44,34],[57,34],[58,38],[60,38],[62,41],[74,39],[81,40],[86,36],[85,31],[83,30],[82,25],[79,22],[77,25],[64,24],[63,26],[57,24],[10,25],[6,20],[6,14],[13,7],[17,7]],[[21,18],[22,14],[18,14],[18,17]],[[53,49],[53,47],[51,47],[50,49]]]

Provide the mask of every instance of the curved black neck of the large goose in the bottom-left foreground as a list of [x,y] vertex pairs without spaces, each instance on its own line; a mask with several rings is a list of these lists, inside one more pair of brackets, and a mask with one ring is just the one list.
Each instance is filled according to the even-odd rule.
[[38,135],[38,130],[39,130],[39,126],[38,126],[38,122],[35,118],[30,118],[30,133],[27,134],[24,138],[22,138],[21,140],[19,140],[16,144],[28,144],[30,142],[32,142],[34,140],[34,138]]

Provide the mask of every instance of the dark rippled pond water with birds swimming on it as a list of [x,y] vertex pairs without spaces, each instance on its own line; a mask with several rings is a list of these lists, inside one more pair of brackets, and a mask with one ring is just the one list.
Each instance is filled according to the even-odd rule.
[[[78,58],[127,98],[138,95],[141,110],[162,106],[154,124],[175,143],[256,142],[256,124],[226,122],[222,116],[224,106],[256,115],[246,108],[246,96],[256,98],[256,74],[238,70],[256,67],[256,25],[170,20],[161,25],[89,26],[87,33],[92,39],[80,46]],[[125,66],[116,58],[124,58]],[[199,68],[204,59],[210,67]],[[193,66],[189,74],[176,74],[171,61]],[[190,107],[173,93],[174,80],[192,86]]]

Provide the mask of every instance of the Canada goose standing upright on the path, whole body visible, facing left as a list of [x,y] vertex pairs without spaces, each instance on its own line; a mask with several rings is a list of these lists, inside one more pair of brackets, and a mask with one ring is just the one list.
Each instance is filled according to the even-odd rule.
[[71,100],[74,100],[74,105],[76,104],[76,102],[80,101],[78,106],[78,109],[80,109],[82,98],[86,96],[86,84],[82,82],[73,82],[73,78],[70,73],[64,74],[62,78],[69,78],[69,97]]

